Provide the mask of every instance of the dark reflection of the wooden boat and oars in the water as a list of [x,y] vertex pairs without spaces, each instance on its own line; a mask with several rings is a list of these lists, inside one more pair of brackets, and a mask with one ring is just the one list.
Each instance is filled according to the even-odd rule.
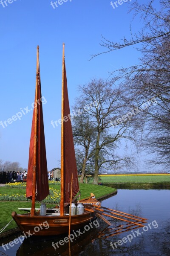
[[[126,228],[127,226],[127,228]],[[130,227],[129,227],[130,226]],[[129,229],[128,229],[129,227]],[[63,241],[65,239],[65,236],[53,236],[53,237],[34,237],[33,239],[25,239],[23,241],[23,244],[21,244],[20,248],[17,250],[17,256],[23,256],[23,255],[29,255],[29,256],[53,256],[53,255],[59,255],[59,256],[78,256],[82,251],[87,250],[86,247],[88,245],[92,245],[95,247],[96,244],[99,246],[99,242],[101,242],[101,239],[108,239],[112,238],[113,236],[117,235],[115,237],[115,241],[118,240],[118,235],[125,232],[125,231],[131,231],[133,229],[139,228],[139,226],[132,227],[130,224],[121,225],[120,221],[116,221],[116,225],[114,224],[114,227],[105,227],[105,222],[101,221],[99,228],[93,228],[89,231],[86,231],[83,233],[83,229],[81,229],[82,234],[78,236],[77,238],[73,239],[71,241],[71,249],[69,251],[69,244],[65,243],[63,245],[59,245],[59,241]],[[116,231],[116,232],[115,232]],[[114,240],[111,240],[114,241]],[[58,242],[58,247],[57,247]],[[52,243],[55,245],[56,250]],[[107,244],[110,244],[107,242]],[[90,250],[90,248],[89,248]],[[100,254],[101,255],[101,254]]]

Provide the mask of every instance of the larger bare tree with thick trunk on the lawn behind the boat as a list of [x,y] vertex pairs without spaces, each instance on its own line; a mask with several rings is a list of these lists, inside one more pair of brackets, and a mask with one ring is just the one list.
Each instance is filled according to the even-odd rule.
[[[122,139],[133,140],[133,129],[130,128],[128,119],[117,122],[116,125],[113,124],[127,109],[124,102],[125,92],[116,85],[113,87],[113,82],[93,79],[89,84],[81,86],[80,92],[77,107],[85,109],[85,116],[88,116],[88,122],[93,123],[93,132],[95,133],[95,140],[91,145],[88,160],[94,163],[94,184],[98,184],[99,170],[102,168],[115,169],[119,163],[127,161],[127,159],[130,160],[128,157],[117,155],[116,148]],[[83,132],[78,134],[77,142],[84,144],[86,140],[84,146],[85,152],[87,152],[87,119],[85,123]],[[87,164],[86,157],[84,160]]]

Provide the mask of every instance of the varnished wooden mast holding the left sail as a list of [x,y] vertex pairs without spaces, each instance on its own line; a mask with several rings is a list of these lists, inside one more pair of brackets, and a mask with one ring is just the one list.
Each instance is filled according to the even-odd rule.
[[[38,99],[38,80],[39,80],[39,46],[37,46],[37,72],[36,72],[36,89],[35,102]],[[35,215],[35,196],[36,196],[36,157],[37,157],[37,105],[35,107],[35,126],[34,126],[34,162],[33,162],[33,181],[32,181],[32,205],[31,215]]]

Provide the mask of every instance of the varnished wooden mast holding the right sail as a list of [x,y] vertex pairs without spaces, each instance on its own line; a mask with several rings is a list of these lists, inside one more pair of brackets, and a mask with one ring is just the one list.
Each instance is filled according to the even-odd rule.
[[62,111],[61,111],[61,201],[60,201],[60,215],[64,215],[64,193],[65,193],[65,180],[64,180],[64,43],[62,49]]

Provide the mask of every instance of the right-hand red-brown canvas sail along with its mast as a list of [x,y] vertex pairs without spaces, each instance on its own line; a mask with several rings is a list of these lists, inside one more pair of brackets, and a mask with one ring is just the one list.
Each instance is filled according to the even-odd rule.
[[[62,144],[63,144],[64,202],[70,203],[72,174],[73,174],[72,198],[74,198],[74,196],[77,195],[77,192],[79,192],[79,183],[78,183],[78,175],[77,175],[76,157],[75,157],[75,151],[74,151],[73,132],[71,127],[71,119],[70,119],[70,108],[69,108],[69,101],[68,101],[67,76],[66,76],[66,70],[65,70],[64,51],[63,51],[63,69],[64,70],[62,73],[62,76],[63,76],[62,78],[62,83],[63,83],[62,119],[64,120],[64,122],[62,123],[63,125],[62,126],[63,127]],[[62,166],[61,166],[61,172],[62,172]],[[62,189],[61,189],[61,193],[62,193]]]

